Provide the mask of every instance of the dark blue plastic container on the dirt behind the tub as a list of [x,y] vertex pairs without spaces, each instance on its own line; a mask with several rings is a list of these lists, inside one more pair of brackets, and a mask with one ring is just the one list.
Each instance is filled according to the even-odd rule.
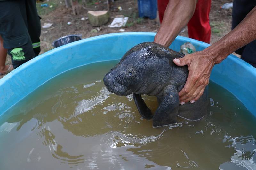
[[138,0],[139,17],[156,18],[157,0]]

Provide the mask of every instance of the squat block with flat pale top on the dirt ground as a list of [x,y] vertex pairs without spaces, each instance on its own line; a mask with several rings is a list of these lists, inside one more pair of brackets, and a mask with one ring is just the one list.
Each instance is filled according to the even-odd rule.
[[87,15],[92,26],[101,26],[106,24],[109,19],[108,11],[88,11]]

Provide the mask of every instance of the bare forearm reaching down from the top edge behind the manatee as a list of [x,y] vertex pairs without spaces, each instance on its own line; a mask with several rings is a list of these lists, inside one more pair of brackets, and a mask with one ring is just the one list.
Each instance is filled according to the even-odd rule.
[[170,0],[154,42],[170,46],[194,14],[197,0]]

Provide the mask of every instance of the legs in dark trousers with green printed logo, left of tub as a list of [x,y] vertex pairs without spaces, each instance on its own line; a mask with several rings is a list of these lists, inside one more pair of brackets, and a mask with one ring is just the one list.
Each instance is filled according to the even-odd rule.
[[39,54],[40,33],[36,0],[0,0],[0,35],[14,69]]

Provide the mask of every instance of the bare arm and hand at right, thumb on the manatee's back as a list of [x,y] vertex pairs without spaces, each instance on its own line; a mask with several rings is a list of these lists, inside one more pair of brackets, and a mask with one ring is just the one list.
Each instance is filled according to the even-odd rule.
[[203,51],[185,55],[181,59],[174,59],[178,66],[188,65],[188,78],[184,88],[179,92],[180,104],[188,101],[194,103],[204,92],[209,83],[210,73],[215,64],[219,64],[229,54],[256,39],[256,7],[244,20]]

